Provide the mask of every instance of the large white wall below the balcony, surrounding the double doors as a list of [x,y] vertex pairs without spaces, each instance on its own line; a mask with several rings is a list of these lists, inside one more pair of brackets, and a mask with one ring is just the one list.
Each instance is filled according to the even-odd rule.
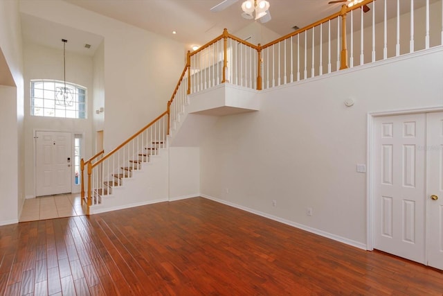
[[443,107],[442,77],[440,49],[260,92],[201,146],[201,193],[364,246],[367,114]]

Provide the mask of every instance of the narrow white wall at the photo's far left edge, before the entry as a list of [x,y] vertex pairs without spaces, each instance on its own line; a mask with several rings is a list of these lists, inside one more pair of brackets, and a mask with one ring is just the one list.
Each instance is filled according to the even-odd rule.
[[19,3],[0,1],[0,49],[15,84],[0,90],[0,225],[17,222],[24,202],[22,48]]

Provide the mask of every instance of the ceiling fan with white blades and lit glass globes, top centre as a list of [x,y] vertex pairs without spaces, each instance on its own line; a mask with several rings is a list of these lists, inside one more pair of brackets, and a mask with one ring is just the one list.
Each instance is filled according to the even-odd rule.
[[[238,0],[224,0],[210,9],[212,12],[219,12],[238,2]],[[242,17],[245,19],[260,19],[262,24],[271,20],[269,12],[269,2],[266,0],[246,0],[242,3]],[[255,15],[255,17],[254,17]]]

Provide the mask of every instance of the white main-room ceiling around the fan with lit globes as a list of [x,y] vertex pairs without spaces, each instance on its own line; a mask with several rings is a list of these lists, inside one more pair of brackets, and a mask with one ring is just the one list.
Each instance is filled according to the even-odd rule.
[[[221,35],[224,28],[235,33],[253,20],[241,16],[242,0],[220,12],[210,8],[222,0],[65,0],[147,31],[165,35],[188,48],[203,45]],[[266,28],[286,35],[293,26],[302,28],[340,10],[329,0],[269,0],[271,21]],[[172,35],[177,31],[177,35]]]

